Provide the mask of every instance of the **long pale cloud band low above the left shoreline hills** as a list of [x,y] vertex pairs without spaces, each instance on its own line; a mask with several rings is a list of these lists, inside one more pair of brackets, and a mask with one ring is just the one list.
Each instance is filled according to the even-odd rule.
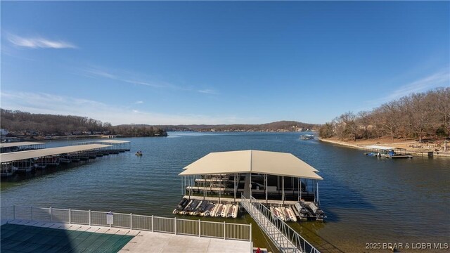
[[234,124],[247,119],[233,115],[164,114],[135,110],[84,98],[50,93],[1,91],[1,108],[54,115],[78,115],[117,124]]

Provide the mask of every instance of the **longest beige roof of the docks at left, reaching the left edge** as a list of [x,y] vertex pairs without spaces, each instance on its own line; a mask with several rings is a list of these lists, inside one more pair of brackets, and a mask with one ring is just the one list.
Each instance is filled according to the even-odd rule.
[[71,145],[59,148],[43,148],[39,150],[27,150],[19,152],[11,152],[0,154],[0,162],[13,162],[37,157],[45,157],[49,155],[60,155],[65,153],[74,153],[85,150],[93,150],[96,148],[106,148],[110,145],[89,144],[89,145]]

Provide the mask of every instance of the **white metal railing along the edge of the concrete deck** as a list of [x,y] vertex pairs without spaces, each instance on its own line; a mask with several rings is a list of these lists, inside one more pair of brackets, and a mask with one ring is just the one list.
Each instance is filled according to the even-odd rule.
[[213,221],[177,219],[138,214],[113,214],[113,223],[108,223],[107,212],[91,210],[59,209],[44,207],[1,207],[2,220],[48,221],[56,223],[109,226],[142,231],[194,235],[207,238],[252,241],[252,224],[237,224]]

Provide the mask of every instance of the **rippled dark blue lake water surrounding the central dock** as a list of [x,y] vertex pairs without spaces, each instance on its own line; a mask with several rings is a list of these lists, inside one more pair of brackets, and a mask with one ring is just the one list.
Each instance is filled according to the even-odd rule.
[[[293,153],[324,179],[319,191],[328,219],[295,225],[301,233],[315,233],[344,252],[376,252],[366,243],[449,242],[450,159],[380,160],[361,150],[302,141],[299,133],[169,133],[126,140],[131,152],[2,181],[1,205],[173,216],[183,167],[210,152],[269,150]],[[70,142],[53,141],[47,148]],[[136,150],[143,156],[136,157]]]

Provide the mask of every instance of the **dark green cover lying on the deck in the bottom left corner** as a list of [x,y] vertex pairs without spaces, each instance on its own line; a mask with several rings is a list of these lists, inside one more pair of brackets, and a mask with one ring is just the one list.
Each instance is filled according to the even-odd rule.
[[8,252],[118,252],[134,236],[70,231],[4,224],[0,226],[1,253]]

